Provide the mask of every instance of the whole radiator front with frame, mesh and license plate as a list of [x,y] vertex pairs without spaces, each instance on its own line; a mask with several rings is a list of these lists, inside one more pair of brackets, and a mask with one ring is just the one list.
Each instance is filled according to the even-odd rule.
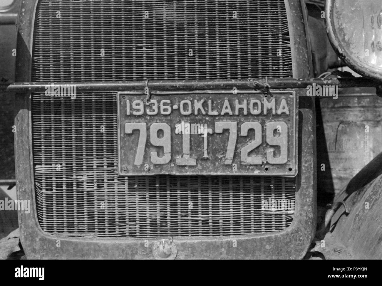
[[314,101],[267,78],[312,76],[304,7],[21,3],[16,82],[40,86],[15,96],[26,255],[302,258]]

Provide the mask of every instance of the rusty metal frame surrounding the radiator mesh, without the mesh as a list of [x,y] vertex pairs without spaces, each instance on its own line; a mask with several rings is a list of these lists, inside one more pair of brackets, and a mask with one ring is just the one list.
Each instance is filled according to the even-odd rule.
[[[310,74],[309,54],[300,1],[288,1],[290,29],[293,41],[294,76]],[[18,31],[18,59],[16,81],[29,82],[31,71],[31,39],[34,6],[36,1],[25,1],[21,8]],[[32,29],[31,29],[32,27]],[[173,88],[172,88],[173,89]],[[115,89],[113,89],[115,90]],[[301,95],[298,94],[298,95]],[[65,238],[47,235],[37,223],[34,196],[31,134],[30,97],[18,94],[15,98],[17,133],[16,181],[18,199],[31,200],[31,213],[19,212],[21,242],[28,258],[154,258],[152,246],[160,239],[94,239]],[[315,115],[311,98],[299,103],[299,174],[296,193],[295,219],[287,229],[271,234],[244,235],[215,238],[174,238],[177,259],[296,259],[308,250],[316,229],[316,155]],[[58,247],[60,242],[60,247]]]

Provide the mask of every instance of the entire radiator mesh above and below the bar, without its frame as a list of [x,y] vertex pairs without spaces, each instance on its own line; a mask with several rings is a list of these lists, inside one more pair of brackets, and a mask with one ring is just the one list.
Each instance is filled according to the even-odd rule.
[[[32,81],[291,76],[283,5],[40,0]],[[231,10],[239,20],[227,16]],[[275,55],[278,48],[282,57]],[[294,202],[295,179],[119,177],[116,108],[115,92],[78,92],[76,99],[32,95],[37,216],[47,233],[220,236],[291,224],[293,210],[262,210],[262,201]]]

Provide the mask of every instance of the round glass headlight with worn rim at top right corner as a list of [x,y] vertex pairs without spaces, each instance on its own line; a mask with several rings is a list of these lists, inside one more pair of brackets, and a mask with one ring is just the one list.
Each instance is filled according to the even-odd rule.
[[327,0],[326,26],[333,48],[351,69],[382,80],[382,1]]

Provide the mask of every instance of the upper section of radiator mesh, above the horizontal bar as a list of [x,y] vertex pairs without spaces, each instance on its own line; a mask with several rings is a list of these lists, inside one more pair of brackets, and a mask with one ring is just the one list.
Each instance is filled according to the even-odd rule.
[[284,0],[42,0],[34,39],[37,81],[292,76]]

